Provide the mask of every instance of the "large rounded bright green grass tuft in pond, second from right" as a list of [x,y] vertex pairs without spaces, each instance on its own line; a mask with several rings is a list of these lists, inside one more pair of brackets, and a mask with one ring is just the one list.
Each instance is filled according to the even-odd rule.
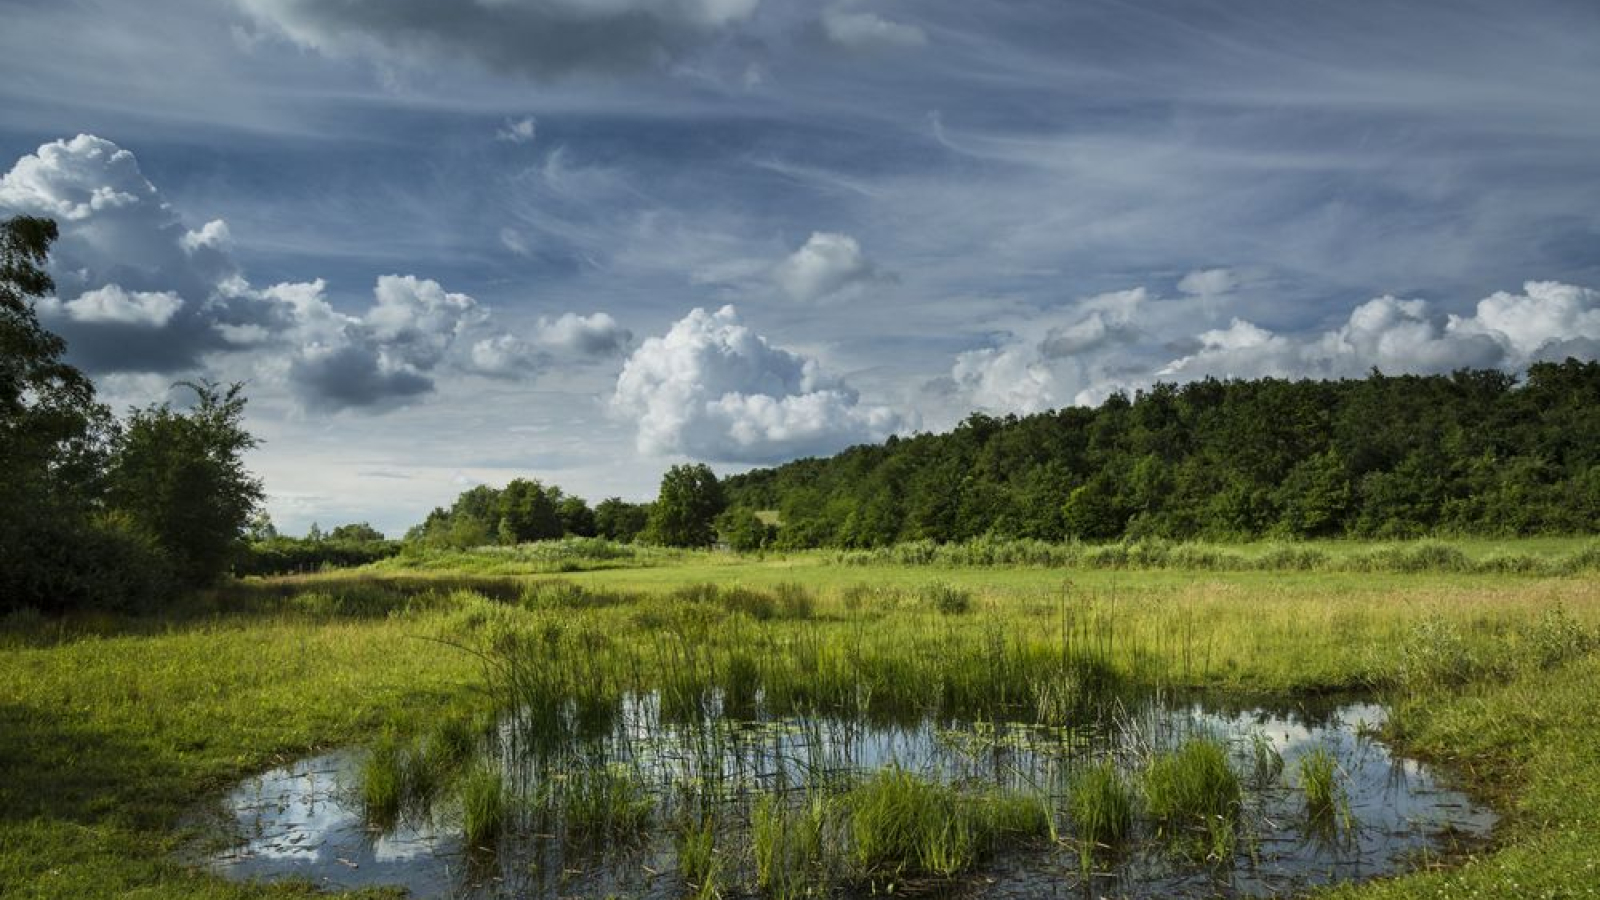
[[1218,740],[1192,738],[1144,769],[1144,806],[1160,834],[1179,844],[1203,836],[1208,858],[1232,857],[1242,799],[1227,746]]

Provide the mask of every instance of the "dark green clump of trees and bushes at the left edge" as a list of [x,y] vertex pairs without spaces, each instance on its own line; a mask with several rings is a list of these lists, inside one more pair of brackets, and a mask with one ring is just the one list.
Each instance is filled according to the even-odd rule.
[[122,426],[34,309],[56,226],[0,224],[0,610],[139,609],[216,580],[261,498],[238,386]]

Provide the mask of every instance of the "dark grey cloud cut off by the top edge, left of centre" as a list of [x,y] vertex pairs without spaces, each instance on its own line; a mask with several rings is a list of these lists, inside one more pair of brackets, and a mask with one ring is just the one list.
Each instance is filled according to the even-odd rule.
[[[758,0],[238,0],[325,53],[419,64],[470,59],[554,77],[659,67],[747,19]],[[530,133],[531,136],[531,133]]]

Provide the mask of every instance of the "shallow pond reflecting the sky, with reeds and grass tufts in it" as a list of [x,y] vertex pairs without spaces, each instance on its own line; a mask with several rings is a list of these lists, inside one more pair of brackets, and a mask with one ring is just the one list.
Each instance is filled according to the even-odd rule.
[[[722,895],[798,894],[798,881],[768,871],[770,836],[766,868],[757,862],[758,820],[779,807],[832,804],[845,812],[818,828],[837,831],[840,849],[832,857],[813,849],[803,860],[806,887],[832,894],[1256,897],[1414,868],[1482,841],[1494,825],[1493,812],[1438,772],[1378,740],[1384,709],[1373,703],[1147,700],[1070,727],[720,713],[672,722],[656,697],[630,697],[602,733],[560,746],[530,746],[520,722],[499,722],[478,757],[491,761],[507,812],[494,838],[474,847],[459,793],[440,790],[374,817],[362,790],[371,751],[302,759],[226,798],[237,844],[206,865],[234,879],[402,886],[418,897],[666,898],[693,894],[678,858],[688,854],[683,823],[693,822],[707,823]],[[1070,796],[1085,769],[1110,762],[1136,809],[1147,807],[1138,794],[1152,761],[1195,741],[1221,748],[1240,785],[1222,841],[1214,823],[1163,822],[1149,809],[1115,846],[1077,839]],[[1307,802],[1310,757],[1331,762],[1336,809],[1325,815]],[[862,825],[850,804],[864,778],[885,770],[947,788],[955,804],[1032,798],[1051,826],[1000,833],[958,876],[918,874],[917,865],[864,873],[861,838],[850,834]]]

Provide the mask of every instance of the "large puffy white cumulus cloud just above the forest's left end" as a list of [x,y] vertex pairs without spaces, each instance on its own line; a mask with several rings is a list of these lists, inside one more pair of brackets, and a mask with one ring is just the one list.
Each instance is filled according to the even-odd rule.
[[611,407],[637,420],[640,452],[717,461],[830,453],[902,424],[814,359],[770,344],[731,306],[694,309],[646,338],[622,367]]

